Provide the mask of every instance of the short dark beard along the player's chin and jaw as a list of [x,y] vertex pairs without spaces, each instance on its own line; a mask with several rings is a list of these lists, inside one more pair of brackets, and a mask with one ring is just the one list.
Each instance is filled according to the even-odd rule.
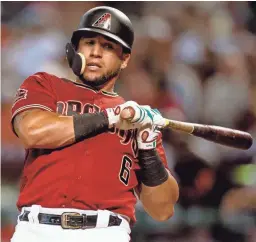
[[105,83],[109,82],[112,80],[114,77],[118,76],[121,71],[121,68],[118,67],[116,70],[109,71],[99,77],[96,78],[86,78],[82,75],[79,76],[79,79],[86,85],[91,86],[91,87],[100,87],[104,85]]

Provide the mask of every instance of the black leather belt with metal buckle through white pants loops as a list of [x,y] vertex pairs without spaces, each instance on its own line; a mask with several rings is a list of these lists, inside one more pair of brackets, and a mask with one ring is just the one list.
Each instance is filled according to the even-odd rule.
[[[29,221],[30,211],[24,211],[19,216],[20,221]],[[79,213],[63,213],[61,215],[39,213],[38,220],[40,224],[60,225],[63,229],[88,229],[95,228],[98,215],[86,215]],[[119,226],[122,222],[117,216],[110,215],[108,226]]]

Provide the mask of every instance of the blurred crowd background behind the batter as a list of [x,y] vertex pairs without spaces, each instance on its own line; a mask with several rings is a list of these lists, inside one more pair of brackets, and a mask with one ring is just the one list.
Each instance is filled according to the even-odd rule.
[[[116,91],[165,117],[248,131],[256,138],[255,2],[1,2],[1,237],[9,241],[24,151],[10,129],[17,88],[45,71],[74,79],[65,44],[88,9],[107,5],[133,22],[130,65]],[[167,130],[180,185],[175,216],[152,220],[138,202],[132,242],[256,241],[256,143],[237,150]]]

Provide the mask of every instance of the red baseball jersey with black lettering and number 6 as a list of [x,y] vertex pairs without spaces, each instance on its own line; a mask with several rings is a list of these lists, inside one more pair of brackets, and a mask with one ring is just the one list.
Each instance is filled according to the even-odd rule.
[[[99,112],[125,101],[117,94],[47,73],[28,77],[18,89],[12,120],[18,113],[39,108],[62,115]],[[161,144],[158,152],[165,163]],[[136,130],[118,130],[58,149],[26,150],[19,209],[38,204],[49,208],[108,209],[135,221],[138,186]]]

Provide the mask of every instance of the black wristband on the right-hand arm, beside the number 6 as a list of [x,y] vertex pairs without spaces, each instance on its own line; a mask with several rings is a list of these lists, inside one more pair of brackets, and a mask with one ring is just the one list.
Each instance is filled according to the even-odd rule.
[[139,150],[139,165],[140,181],[146,186],[155,187],[168,179],[168,172],[155,149]]

